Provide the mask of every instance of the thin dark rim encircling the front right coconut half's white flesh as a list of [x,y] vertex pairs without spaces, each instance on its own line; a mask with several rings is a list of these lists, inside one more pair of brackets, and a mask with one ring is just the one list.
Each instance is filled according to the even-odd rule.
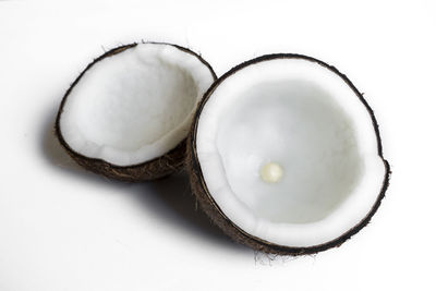
[[[376,135],[376,142],[377,142],[377,155],[382,159],[384,166],[385,166],[385,175],[384,180],[382,183],[380,192],[373,204],[373,207],[368,210],[367,215],[360,220],[354,227],[349,229],[348,231],[343,232],[341,235],[338,238],[330,240],[328,242],[322,243],[322,244],[316,244],[312,246],[284,246],[276,243],[271,243],[269,241],[266,241],[264,239],[261,239],[258,237],[252,235],[244,231],[242,228],[237,226],[234,222],[232,222],[226,214],[221,210],[221,208],[218,206],[218,204],[215,202],[213,195],[210,194],[204,175],[202,171],[202,167],[198,161],[197,157],[197,150],[196,150],[196,135],[197,135],[197,126],[198,126],[198,121],[199,121],[199,116],[202,114],[203,108],[208,101],[209,97],[213,95],[215,89],[229,76],[233,75],[238,71],[250,66],[252,64],[256,64],[263,61],[270,61],[270,60],[277,60],[277,59],[302,59],[311,62],[315,62],[326,69],[328,69],[330,72],[335,73],[338,75],[356,95],[359,100],[364,105],[365,109],[370,113],[372,123],[373,123],[373,129]],[[221,216],[225,221],[231,226],[234,230],[237,230],[243,238],[242,241],[249,241],[249,242],[254,242],[255,243],[255,248],[266,251],[269,253],[277,253],[277,254],[293,254],[293,255],[300,255],[300,254],[313,254],[313,253],[318,253],[322,251],[325,251],[327,248],[334,247],[334,246],[339,246],[341,245],[344,241],[350,239],[353,234],[359,232],[361,229],[363,229],[371,220],[371,218],[374,216],[374,214],[377,211],[382,199],[385,197],[385,193],[388,189],[389,185],[389,179],[391,174],[390,170],[390,165],[389,162],[384,158],[383,156],[383,145],[382,145],[382,137],[378,129],[378,123],[375,118],[373,109],[370,107],[368,102],[364,99],[363,95],[358,90],[358,88],[353,85],[353,83],[347,77],[347,75],[342,74],[338,69],[336,69],[334,65],[329,65],[326,62],[323,62],[318,59],[315,59],[313,57],[304,56],[304,54],[299,54],[299,53],[271,53],[271,54],[264,54],[262,57],[254,58],[252,60],[245,61],[240,63],[239,65],[232,68],[229,70],[227,73],[225,73],[222,76],[220,76],[217,81],[215,81],[209,89],[204,94],[202,100],[198,102],[197,110],[194,113],[193,118],[193,123],[191,128],[191,132],[189,134],[189,142],[187,142],[187,156],[191,158],[189,160],[189,166],[191,167],[191,170],[194,172],[193,174],[198,175],[198,181],[201,183],[203,194],[206,195],[208,202],[214,206],[214,208],[217,210],[218,215]],[[214,219],[214,217],[213,217]],[[217,225],[219,225],[217,222]],[[219,227],[222,228],[222,226],[219,225]],[[223,229],[225,230],[225,229]],[[225,230],[225,232],[229,233],[228,231]],[[232,235],[230,235],[232,237]],[[235,238],[233,238],[235,239]],[[240,238],[241,239],[241,238]]]

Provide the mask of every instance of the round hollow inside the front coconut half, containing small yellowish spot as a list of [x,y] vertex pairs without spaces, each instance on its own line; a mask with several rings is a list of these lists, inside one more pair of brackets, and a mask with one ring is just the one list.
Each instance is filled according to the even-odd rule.
[[315,83],[258,84],[226,111],[218,154],[230,189],[257,217],[322,220],[362,178],[353,124]]

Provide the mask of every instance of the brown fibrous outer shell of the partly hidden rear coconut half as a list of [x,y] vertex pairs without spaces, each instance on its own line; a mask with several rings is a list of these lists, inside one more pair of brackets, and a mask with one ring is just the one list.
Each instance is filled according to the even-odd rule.
[[[186,53],[191,53],[192,56],[196,57],[203,64],[209,69],[214,80],[217,80],[217,75],[215,74],[214,70],[211,69],[210,64],[207,63],[201,56],[193,52],[187,48],[180,47],[178,45],[167,44],[167,43],[143,43],[143,44],[160,44],[160,45],[168,45],[173,46]],[[157,157],[153,160],[148,160],[142,163],[121,167],[117,165],[112,165],[108,161],[102,159],[96,159],[86,157],[74,149],[72,149],[65,140],[62,136],[62,132],[60,129],[60,118],[63,111],[63,106],[65,104],[66,98],[69,97],[70,93],[74,88],[74,86],[81,81],[82,76],[93,68],[93,65],[106,58],[110,58],[117,53],[120,53],[124,50],[133,48],[137,46],[136,43],[120,46],[113,48],[97,59],[95,59],[92,63],[89,63],[86,69],[77,76],[77,78],[73,82],[70,88],[66,90],[65,95],[62,98],[61,105],[59,107],[58,116],[55,122],[55,132],[56,136],[58,137],[62,147],[66,150],[66,153],[82,167],[85,169],[93,171],[98,174],[102,174],[105,177],[117,179],[121,181],[129,181],[129,182],[138,182],[138,181],[148,181],[155,180],[159,178],[164,178],[175,171],[183,168],[184,160],[185,160],[185,153],[186,153],[186,138],[179,143],[173,149],[169,150],[167,154],[162,155],[161,157]]]

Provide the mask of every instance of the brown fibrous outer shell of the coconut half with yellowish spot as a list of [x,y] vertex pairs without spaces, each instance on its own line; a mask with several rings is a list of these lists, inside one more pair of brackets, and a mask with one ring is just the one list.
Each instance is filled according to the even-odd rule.
[[[316,62],[317,64],[327,68],[330,70],[332,73],[339,75],[343,82],[348,84],[348,86],[354,92],[354,94],[359,97],[359,99],[362,101],[362,104],[365,106],[366,110],[368,111],[373,125],[374,125],[374,131],[377,137],[377,148],[378,148],[378,156],[383,159],[385,163],[385,178],[383,182],[383,186],[380,189],[380,193],[374,203],[373,207],[370,209],[367,215],[353,228],[348,230],[346,233],[340,235],[339,238],[323,243],[318,245],[313,245],[313,246],[307,246],[307,247],[290,247],[290,246],[283,246],[279,244],[275,244],[271,242],[268,242],[266,240],[263,240],[261,238],[251,235],[250,233],[245,232],[241,228],[239,228],[237,225],[234,225],[220,209],[218,204],[215,202],[214,197],[209,193],[206,182],[203,177],[202,172],[202,167],[198,162],[198,157],[197,157],[197,151],[196,151],[196,134],[197,134],[197,126],[198,126],[198,119],[199,116],[202,114],[202,110],[205,106],[205,104],[208,101],[209,97],[214,94],[215,89],[229,76],[238,72],[239,70],[242,70],[249,65],[263,62],[263,61],[269,61],[269,60],[276,60],[276,59],[303,59],[307,60],[311,62]],[[187,171],[190,172],[190,179],[191,179],[191,185],[192,185],[192,191],[195,194],[201,207],[203,210],[211,218],[211,220],[226,233],[228,234],[231,239],[233,239],[235,242],[247,245],[256,251],[264,252],[264,253],[270,253],[270,254],[278,254],[278,255],[305,255],[305,254],[315,254],[322,251],[326,251],[330,247],[334,246],[340,246],[343,242],[346,242],[348,239],[350,239],[353,234],[358,233],[362,228],[364,228],[371,220],[371,218],[374,216],[374,214],[377,211],[382,199],[385,197],[386,190],[389,185],[389,178],[390,178],[390,166],[389,162],[384,159],[383,157],[383,147],[382,147],[382,138],[378,130],[378,124],[374,116],[374,111],[371,109],[370,105],[366,102],[366,100],[363,98],[362,94],[354,87],[354,85],[351,83],[351,81],[342,73],[340,73],[335,66],[331,66],[323,61],[319,61],[317,59],[314,59],[312,57],[303,56],[303,54],[295,54],[295,53],[275,53],[275,54],[266,54],[258,58],[255,58],[253,60],[243,62],[233,69],[231,69],[229,72],[223,74],[221,77],[219,77],[211,86],[210,88],[205,93],[202,101],[198,105],[198,108],[196,110],[196,113],[194,116],[194,122],[191,128],[191,133],[187,138],[187,160],[186,160],[186,167]]]

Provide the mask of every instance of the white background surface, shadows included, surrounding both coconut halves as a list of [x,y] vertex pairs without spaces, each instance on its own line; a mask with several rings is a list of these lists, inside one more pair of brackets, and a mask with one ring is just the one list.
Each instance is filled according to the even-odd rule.
[[[184,175],[108,181],[52,135],[69,84],[132,41],[218,75],[270,52],[336,65],[380,124],[391,185],[341,247],[256,255],[195,210]],[[436,5],[428,1],[0,1],[0,290],[435,290]]]

